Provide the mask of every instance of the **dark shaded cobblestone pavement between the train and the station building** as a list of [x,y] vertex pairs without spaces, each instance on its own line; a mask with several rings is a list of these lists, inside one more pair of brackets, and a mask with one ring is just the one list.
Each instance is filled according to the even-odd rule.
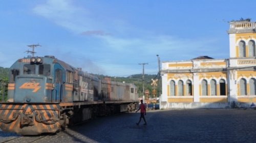
[[[256,110],[156,110],[96,118],[36,142],[255,142]],[[0,142],[16,136],[0,131]],[[14,141],[13,141],[14,142]],[[26,141],[19,142],[29,142]]]

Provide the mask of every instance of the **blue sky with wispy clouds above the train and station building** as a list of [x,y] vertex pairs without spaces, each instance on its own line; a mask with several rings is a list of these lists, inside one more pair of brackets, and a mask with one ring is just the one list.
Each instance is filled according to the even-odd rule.
[[256,21],[251,1],[0,1],[0,66],[10,67],[39,43],[94,74],[157,74],[161,61],[229,58],[228,21]]

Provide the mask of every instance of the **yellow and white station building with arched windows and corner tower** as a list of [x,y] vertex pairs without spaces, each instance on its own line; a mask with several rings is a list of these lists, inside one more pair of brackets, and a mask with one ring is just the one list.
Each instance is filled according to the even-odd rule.
[[256,22],[231,21],[227,59],[163,61],[160,108],[237,108],[256,104]]

